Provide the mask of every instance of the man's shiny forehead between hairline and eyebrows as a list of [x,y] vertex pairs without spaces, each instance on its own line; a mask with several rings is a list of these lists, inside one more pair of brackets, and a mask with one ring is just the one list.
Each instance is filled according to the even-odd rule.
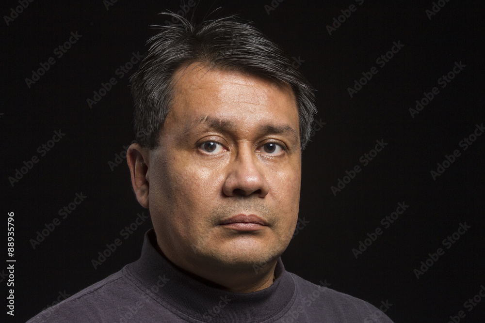
[[201,63],[179,68],[174,82],[169,115],[176,120],[224,116],[256,122],[258,115],[273,122],[293,123],[298,131],[298,109],[288,84],[238,71],[210,69]]

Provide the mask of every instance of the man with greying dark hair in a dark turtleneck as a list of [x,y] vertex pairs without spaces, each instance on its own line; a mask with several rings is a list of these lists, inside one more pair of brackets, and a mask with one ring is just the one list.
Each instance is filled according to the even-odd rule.
[[142,256],[29,322],[391,322],[281,262],[316,114],[306,79],[254,27],[177,18],[131,78]]

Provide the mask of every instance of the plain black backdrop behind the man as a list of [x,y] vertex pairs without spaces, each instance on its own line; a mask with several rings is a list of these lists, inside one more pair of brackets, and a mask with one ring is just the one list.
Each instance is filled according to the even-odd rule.
[[[156,32],[149,25],[169,20],[157,14],[180,10],[178,1],[23,2],[3,1],[0,10],[5,249],[8,212],[15,219],[15,253],[6,257],[16,260],[15,317],[5,313],[11,262],[0,265],[8,322],[138,258],[150,221],[121,232],[147,215],[123,158],[134,139],[128,77],[136,57],[128,69]],[[485,284],[485,136],[475,137],[485,122],[482,2],[200,2],[196,20],[221,6],[210,17],[253,21],[317,89],[322,126],[303,154],[299,216],[308,223],[283,255],[287,270],[376,306],[388,302],[395,322],[449,322],[459,311],[461,322],[484,322],[485,300],[475,296]],[[49,69],[32,76],[42,65]],[[100,91],[112,77],[116,84]],[[396,218],[398,203],[408,207]],[[65,206],[70,213],[59,214]],[[453,244],[443,241],[449,236]],[[116,238],[121,246],[95,269],[92,260]]]

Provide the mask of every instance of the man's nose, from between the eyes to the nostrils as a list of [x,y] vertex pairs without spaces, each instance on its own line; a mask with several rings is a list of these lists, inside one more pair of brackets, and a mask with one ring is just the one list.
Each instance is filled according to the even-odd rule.
[[[226,196],[256,196],[263,198],[268,194],[269,185],[264,169],[256,153],[250,147],[240,149],[231,158],[223,190]],[[267,171],[267,170],[266,170]]]

